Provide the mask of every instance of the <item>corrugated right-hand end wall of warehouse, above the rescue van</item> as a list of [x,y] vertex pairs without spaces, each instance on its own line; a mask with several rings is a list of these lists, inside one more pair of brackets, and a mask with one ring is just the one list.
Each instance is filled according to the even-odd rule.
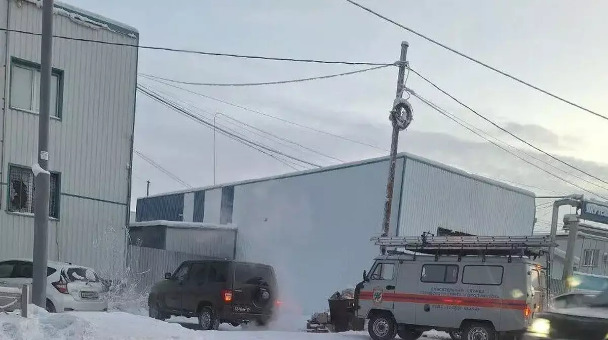
[[[529,196],[528,196],[529,195]],[[531,235],[534,196],[407,158],[399,235],[448,228],[476,235]]]

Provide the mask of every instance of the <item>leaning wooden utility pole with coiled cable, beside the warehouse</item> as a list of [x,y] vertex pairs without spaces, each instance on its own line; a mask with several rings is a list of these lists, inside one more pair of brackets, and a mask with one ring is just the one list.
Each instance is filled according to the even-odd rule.
[[[406,64],[407,64],[407,47],[409,44],[407,41],[401,42],[401,55],[399,56],[399,72],[397,76],[397,91],[396,91],[396,99],[400,99],[403,95],[403,90],[405,87],[404,80],[406,76]],[[397,100],[395,100],[395,104]],[[393,110],[396,107],[393,106]],[[401,109],[399,109],[401,110]],[[393,186],[395,186],[395,163],[397,156],[397,145],[399,143],[399,126],[396,123],[396,114],[391,114],[392,126],[393,126],[393,134],[390,141],[390,160],[389,160],[389,180],[386,185],[386,200],[384,202],[384,219],[382,220],[382,236],[387,236],[389,234],[390,228],[390,210],[393,204]],[[380,253],[386,253],[386,247],[380,247]]]

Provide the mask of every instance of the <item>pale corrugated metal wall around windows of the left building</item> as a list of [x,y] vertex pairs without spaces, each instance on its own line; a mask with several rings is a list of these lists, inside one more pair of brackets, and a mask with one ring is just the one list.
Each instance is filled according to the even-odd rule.
[[[10,29],[40,32],[41,10],[35,4],[3,0],[0,8],[7,4]],[[2,22],[7,11],[0,13]],[[7,25],[4,23],[2,27]],[[4,44],[0,46],[2,61],[6,60],[5,56],[9,61],[15,56],[40,63],[40,36],[7,34],[8,50]],[[55,15],[54,34],[137,43],[136,38],[105,29],[91,29],[62,15]],[[5,32],[0,35],[4,36]],[[108,249],[107,245],[91,251],[91,244],[103,239],[100,236],[119,230],[119,242],[122,249],[125,247],[137,48],[60,38],[55,38],[53,44],[53,66],[63,70],[64,88],[61,120],[52,118],[50,121],[49,168],[61,173],[61,205],[60,221],[50,223],[53,229],[49,235],[49,256],[50,259],[100,267],[114,257],[103,251]],[[10,69],[10,64],[6,68]],[[2,82],[7,79],[8,75]],[[9,109],[4,112],[3,121],[0,257],[30,257],[33,219],[6,212],[5,181],[9,163],[31,166],[35,161],[38,115]],[[55,248],[57,244],[59,250]]]

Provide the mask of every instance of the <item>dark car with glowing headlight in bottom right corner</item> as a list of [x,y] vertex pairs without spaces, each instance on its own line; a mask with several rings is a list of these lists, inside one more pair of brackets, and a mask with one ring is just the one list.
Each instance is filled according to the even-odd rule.
[[523,339],[608,339],[608,290],[578,306],[553,308],[537,314]]

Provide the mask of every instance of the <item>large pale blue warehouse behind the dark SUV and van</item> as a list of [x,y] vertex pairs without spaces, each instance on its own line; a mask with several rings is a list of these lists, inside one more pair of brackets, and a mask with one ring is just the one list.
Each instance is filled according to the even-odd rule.
[[[378,247],[388,157],[229,185],[143,197],[137,221],[235,223],[237,259],[277,270],[284,300],[306,311],[358,282]],[[438,227],[469,234],[533,232],[534,194],[399,154],[390,234]]]

